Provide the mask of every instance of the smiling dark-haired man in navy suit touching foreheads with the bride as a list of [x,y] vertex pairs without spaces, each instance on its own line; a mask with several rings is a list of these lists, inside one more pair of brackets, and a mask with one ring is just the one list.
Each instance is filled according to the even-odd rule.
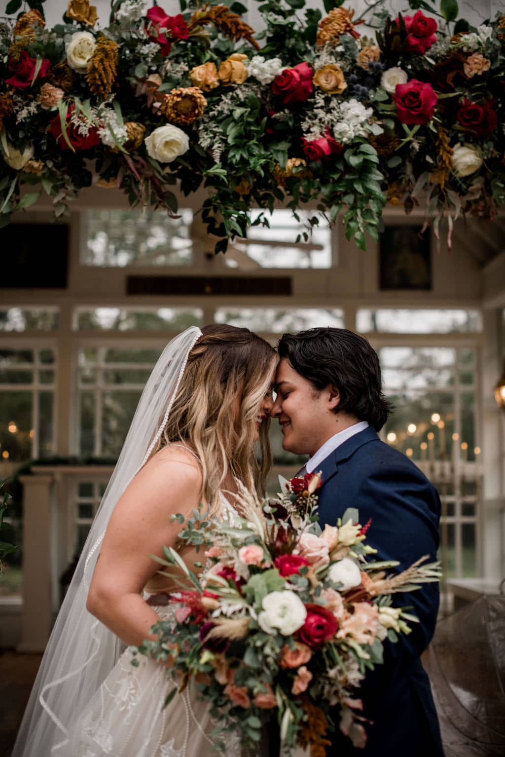
[[[379,359],[366,339],[345,329],[309,329],[284,334],[271,416],[283,434],[283,449],[310,459],[302,473],[321,471],[319,522],[335,525],[348,507],[360,522],[371,519],[369,543],[376,559],[395,559],[398,571],[429,554],[436,559],[440,500],[432,484],[407,457],[376,434],[392,407],[381,391]],[[365,749],[355,749],[339,731],[330,734],[327,755],[339,757],[443,757],[429,679],[420,655],[435,631],[438,585],[399,593],[419,623],[398,643],[386,641],[384,665],[367,675],[360,693],[367,726]],[[275,751],[275,750],[274,750]],[[273,757],[274,751],[271,751]]]

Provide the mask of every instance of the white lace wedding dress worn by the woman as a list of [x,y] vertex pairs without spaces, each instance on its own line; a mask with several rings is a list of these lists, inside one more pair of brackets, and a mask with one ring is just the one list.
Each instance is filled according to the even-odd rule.
[[[225,517],[233,522],[234,509],[223,497]],[[153,606],[156,615],[175,621],[175,606]],[[166,696],[176,686],[160,663],[126,649],[76,718],[66,757],[207,757],[212,752],[211,733],[216,722],[206,702],[197,699],[193,683],[176,693],[163,709]],[[261,752],[256,752],[259,755]],[[265,752],[265,755],[268,752]],[[240,740],[230,734],[225,757],[240,755]]]

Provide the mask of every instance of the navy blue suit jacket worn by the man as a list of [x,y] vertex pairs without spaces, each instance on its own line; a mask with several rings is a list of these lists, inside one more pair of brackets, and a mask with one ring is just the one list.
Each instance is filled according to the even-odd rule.
[[[428,554],[436,559],[440,499],[425,475],[407,457],[380,441],[366,428],[344,442],[318,466],[323,486],[318,491],[319,522],[335,525],[348,507],[358,508],[362,525],[372,519],[367,544],[375,559],[400,562],[398,572]],[[438,584],[394,595],[396,606],[411,607],[420,622],[401,634],[398,643],[385,641],[384,665],[369,673],[361,689],[367,726],[365,749],[354,749],[336,731],[327,755],[339,757],[443,757],[438,717],[429,679],[420,655],[435,631]]]

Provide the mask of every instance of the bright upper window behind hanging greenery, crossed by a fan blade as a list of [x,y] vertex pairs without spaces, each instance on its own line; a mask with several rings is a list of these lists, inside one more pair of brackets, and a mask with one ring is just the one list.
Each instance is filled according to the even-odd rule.
[[[314,213],[297,211],[299,221],[291,210],[277,209],[270,215],[262,210],[252,210],[254,222],[263,212],[268,226],[250,226],[247,238],[250,241],[235,240],[225,255],[225,264],[230,267],[251,268],[257,263],[262,268],[330,268],[331,229],[321,217],[320,226],[314,226],[308,233],[309,218]],[[307,234],[305,239],[303,234]],[[299,237],[299,242],[296,239]]]

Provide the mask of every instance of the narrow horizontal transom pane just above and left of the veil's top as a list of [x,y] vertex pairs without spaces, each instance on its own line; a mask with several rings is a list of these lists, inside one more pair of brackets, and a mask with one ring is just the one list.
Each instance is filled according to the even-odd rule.
[[81,308],[76,312],[76,328],[79,330],[184,331],[190,326],[201,326],[203,310],[200,307],[161,307],[154,310],[129,310],[119,307]]

